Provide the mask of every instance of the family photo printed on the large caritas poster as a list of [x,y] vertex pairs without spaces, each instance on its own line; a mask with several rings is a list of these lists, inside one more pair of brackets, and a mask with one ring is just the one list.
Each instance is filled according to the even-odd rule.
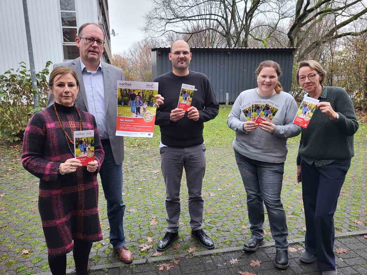
[[143,117],[148,111],[156,114],[156,90],[117,89],[117,116]]

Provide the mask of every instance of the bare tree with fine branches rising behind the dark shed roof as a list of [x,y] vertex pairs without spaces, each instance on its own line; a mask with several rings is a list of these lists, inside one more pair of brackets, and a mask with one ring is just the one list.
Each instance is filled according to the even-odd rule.
[[[151,36],[167,33],[188,35],[205,33],[205,46],[225,41],[227,47],[248,47],[251,24],[272,12],[284,19],[289,8],[280,0],[153,0],[143,30]],[[279,8],[281,10],[279,11]],[[279,22],[281,21],[279,20]],[[279,24],[279,23],[278,23]],[[274,32],[274,30],[273,30]],[[186,36],[187,37],[187,36]],[[220,38],[219,38],[220,37]]]

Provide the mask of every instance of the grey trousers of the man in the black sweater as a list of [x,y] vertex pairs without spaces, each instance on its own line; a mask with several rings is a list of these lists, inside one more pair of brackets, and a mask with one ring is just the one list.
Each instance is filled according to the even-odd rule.
[[182,171],[185,167],[189,192],[190,227],[199,230],[203,227],[204,199],[201,196],[205,174],[205,145],[178,148],[161,147],[161,168],[166,185],[167,231],[178,231],[181,211],[180,187]]

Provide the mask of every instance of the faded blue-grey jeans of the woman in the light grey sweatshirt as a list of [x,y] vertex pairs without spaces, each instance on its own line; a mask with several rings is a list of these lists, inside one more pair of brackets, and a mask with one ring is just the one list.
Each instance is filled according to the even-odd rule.
[[270,163],[250,159],[235,150],[238,169],[247,194],[251,235],[264,238],[264,203],[268,211],[270,231],[276,250],[288,249],[286,212],[280,201],[284,162]]

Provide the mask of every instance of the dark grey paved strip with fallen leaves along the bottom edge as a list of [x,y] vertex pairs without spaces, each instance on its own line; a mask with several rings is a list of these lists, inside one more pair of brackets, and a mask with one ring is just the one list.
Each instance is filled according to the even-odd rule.
[[[336,254],[338,275],[367,274],[367,239],[360,236],[338,238],[334,251],[346,249],[347,253]],[[317,262],[303,264],[299,256],[304,251],[303,243],[294,243],[289,248],[289,267],[286,270],[276,269],[274,247],[260,247],[255,253],[243,251],[216,253],[207,256],[184,256],[167,261],[148,261],[143,265],[121,265],[107,269],[91,270],[90,275],[319,275]],[[181,256],[181,255],[180,255]],[[258,264],[256,264],[258,263]],[[97,267],[97,266],[96,266]],[[167,268],[169,268],[167,270]],[[164,269],[163,271],[159,269]],[[246,273],[247,272],[247,273]]]

